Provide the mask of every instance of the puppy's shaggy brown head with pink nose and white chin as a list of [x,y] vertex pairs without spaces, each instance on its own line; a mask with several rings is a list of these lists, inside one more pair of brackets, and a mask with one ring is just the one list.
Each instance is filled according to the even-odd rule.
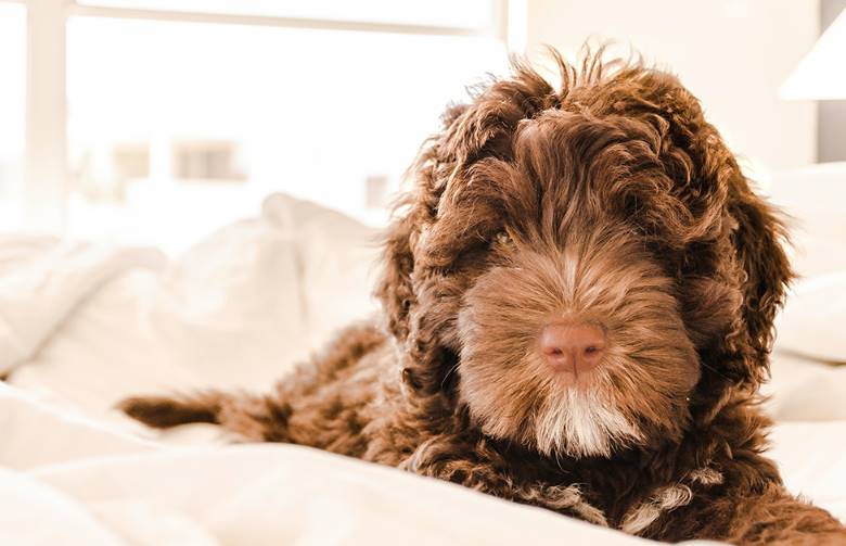
[[557,90],[515,65],[447,112],[377,293],[412,394],[607,457],[757,388],[791,272],[773,211],[674,76],[559,64]]

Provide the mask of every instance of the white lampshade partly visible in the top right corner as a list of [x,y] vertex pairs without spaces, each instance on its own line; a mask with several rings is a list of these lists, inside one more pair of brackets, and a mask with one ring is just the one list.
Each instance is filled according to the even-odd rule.
[[846,10],[782,84],[779,96],[799,101],[846,99]]

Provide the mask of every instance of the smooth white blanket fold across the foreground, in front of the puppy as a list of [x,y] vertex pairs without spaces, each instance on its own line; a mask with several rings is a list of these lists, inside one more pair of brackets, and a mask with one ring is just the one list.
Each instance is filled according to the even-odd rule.
[[299,446],[141,441],[0,384],[0,544],[640,544]]

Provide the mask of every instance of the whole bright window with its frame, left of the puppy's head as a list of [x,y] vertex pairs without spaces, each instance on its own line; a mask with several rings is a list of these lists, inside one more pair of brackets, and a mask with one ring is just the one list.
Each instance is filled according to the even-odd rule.
[[0,229],[176,252],[275,191],[382,224],[447,104],[505,68],[507,8],[0,0]]

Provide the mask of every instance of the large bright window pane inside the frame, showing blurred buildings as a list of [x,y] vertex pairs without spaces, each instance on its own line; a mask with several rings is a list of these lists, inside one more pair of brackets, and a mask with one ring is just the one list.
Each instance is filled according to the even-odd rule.
[[[253,2],[256,4],[258,2]],[[183,246],[285,191],[379,224],[501,40],[75,16],[75,236]]]

